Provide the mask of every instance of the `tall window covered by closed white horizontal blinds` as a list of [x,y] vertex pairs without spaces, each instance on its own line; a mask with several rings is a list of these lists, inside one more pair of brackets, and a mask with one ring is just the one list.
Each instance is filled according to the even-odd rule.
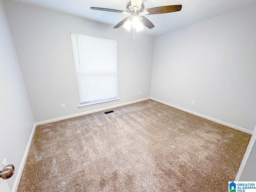
[[71,33],[80,104],[118,100],[116,40]]

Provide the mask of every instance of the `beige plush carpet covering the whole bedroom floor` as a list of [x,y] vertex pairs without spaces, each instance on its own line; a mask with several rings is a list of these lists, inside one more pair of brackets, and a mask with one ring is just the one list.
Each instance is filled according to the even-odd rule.
[[18,192],[224,192],[250,135],[152,100],[36,128]]

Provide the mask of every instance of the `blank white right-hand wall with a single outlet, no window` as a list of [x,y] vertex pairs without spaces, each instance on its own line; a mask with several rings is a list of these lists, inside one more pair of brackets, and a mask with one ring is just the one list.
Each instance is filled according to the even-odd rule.
[[253,131],[255,31],[254,6],[157,36],[151,97]]

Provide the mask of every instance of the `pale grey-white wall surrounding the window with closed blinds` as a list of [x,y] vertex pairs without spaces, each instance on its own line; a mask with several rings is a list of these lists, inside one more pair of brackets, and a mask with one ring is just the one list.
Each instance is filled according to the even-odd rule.
[[[150,97],[153,36],[137,33],[134,41],[124,28],[12,1],[4,6],[36,122]],[[78,109],[70,32],[117,40],[120,101]]]

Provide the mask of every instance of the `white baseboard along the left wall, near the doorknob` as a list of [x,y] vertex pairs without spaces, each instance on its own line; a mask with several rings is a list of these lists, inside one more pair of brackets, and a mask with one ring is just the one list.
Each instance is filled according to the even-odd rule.
[[20,168],[19,168],[19,170],[17,172],[17,176],[16,176],[16,179],[14,181],[14,185],[12,187],[12,192],[16,192],[17,189],[18,189],[18,186],[19,186],[19,183],[20,183],[20,178],[21,178],[21,175],[22,175],[25,163],[26,163],[26,159],[27,159],[27,156],[28,156],[28,151],[29,151],[29,148],[30,148],[30,145],[31,145],[31,142],[32,142],[35,130],[36,130],[36,124],[34,124],[32,132],[30,134],[30,138],[28,140],[28,144],[27,144],[26,150],[24,152],[24,155],[23,155],[23,158],[22,158],[22,161],[21,161],[21,164],[20,164]]

